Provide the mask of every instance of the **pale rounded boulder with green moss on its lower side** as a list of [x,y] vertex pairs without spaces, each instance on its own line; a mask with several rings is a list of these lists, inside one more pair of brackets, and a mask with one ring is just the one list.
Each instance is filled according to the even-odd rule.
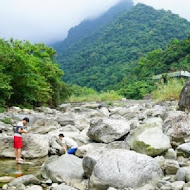
[[171,147],[170,139],[160,127],[147,127],[146,125],[135,130],[130,135],[129,144],[136,152],[157,156]]

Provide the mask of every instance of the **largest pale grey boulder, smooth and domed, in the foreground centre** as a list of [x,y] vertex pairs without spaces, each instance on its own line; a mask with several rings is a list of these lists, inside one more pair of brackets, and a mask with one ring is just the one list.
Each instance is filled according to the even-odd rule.
[[162,175],[158,163],[149,156],[128,150],[109,150],[94,166],[90,187],[92,190],[138,188],[156,183]]

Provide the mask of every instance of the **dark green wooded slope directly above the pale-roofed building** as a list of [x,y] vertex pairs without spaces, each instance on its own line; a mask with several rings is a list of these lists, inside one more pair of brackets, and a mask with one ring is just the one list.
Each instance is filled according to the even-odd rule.
[[[173,40],[165,50],[154,50],[138,62],[139,76],[148,77],[172,71],[190,71],[190,35],[185,40]],[[151,69],[150,69],[151,68]]]

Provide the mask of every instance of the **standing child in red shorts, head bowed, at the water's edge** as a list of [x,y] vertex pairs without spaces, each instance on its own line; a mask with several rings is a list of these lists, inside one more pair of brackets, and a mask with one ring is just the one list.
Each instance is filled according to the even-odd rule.
[[22,133],[28,133],[24,126],[29,123],[29,119],[25,117],[22,121],[17,123],[15,132],[14,132],[14,148],[15,148],[15,157],[18,163],[22,163],[23,159],[21,158],[21,150],[23,147],[22,144]]

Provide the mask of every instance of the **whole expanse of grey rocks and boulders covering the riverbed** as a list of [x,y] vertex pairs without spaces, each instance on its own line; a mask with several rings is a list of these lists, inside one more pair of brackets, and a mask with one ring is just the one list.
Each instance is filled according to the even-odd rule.
[[[0,114],[0,157],[14,157],[12,125],[5,121],[27,116],[25,158],[49,159],[44,180],[26,175],[3,189],[190,190],[190,118],[176,110],[176,102],[145,100],[14,107]],[[59,133],[77,141],[75,156],[64,154]]]

